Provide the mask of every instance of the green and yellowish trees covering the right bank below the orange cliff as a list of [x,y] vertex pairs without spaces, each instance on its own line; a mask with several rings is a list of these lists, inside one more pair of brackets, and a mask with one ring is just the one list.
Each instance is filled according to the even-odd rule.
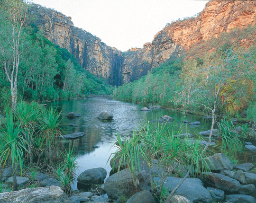
[[182,57],[172,58],[141,79],[115,88],[113,96],[204,113],[210,113],[205,107],[211,109],[216,97],[218,114],[239,116],[247,107],[253,108],[256,101],[255,33],[256,26],[237,28],[194,45]]

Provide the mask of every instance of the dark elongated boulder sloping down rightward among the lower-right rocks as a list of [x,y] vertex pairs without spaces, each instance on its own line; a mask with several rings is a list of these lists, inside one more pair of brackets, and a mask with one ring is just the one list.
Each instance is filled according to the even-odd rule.
[[237,192],[240,189],[240,183],[230,177],[218,173],[202,172],[201,180],[221,190]]

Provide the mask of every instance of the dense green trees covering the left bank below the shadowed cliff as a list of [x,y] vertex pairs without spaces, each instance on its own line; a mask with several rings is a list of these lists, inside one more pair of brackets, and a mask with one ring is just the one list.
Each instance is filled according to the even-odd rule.
[[43,36],[28,9],[22,0],[0,2],[0,95],[14,104],[18,97],[42,101],[110,94],[104,79]]

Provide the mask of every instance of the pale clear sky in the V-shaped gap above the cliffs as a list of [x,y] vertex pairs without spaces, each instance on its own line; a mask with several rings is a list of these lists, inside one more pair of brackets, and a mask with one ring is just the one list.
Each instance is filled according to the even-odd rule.
[[206,0],[27,0],[70,16],[80,27],[121,51],[152,42],[166,23],[201,12]]

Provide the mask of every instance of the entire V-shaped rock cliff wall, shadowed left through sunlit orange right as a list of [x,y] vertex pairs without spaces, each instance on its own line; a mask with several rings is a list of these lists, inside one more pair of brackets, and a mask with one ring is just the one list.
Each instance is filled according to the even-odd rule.
[[179,56],[193,44],[207,40],[235,27],[255,24],[256,1],[213,0],[196,18],[176,21],[159,31],[152,43],[121,53],[101,39],[74,27],[71,17],[39,5],[31,11],[36,24],[52,43],[72,53],[82,68],[119,86],[146,75],[147,71]]

